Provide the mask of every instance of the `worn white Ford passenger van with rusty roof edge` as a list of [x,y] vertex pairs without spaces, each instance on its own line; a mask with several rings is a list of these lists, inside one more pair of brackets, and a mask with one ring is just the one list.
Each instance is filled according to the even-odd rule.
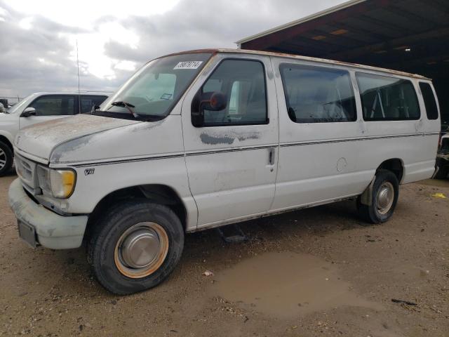
[[93,114],[20,131],[9,190],[32,246],[86,241],[118,294],[156,286],[186,232],[357,199],[388,220],[398,185],[434,173],[431,80],[245,50],[148,62]]

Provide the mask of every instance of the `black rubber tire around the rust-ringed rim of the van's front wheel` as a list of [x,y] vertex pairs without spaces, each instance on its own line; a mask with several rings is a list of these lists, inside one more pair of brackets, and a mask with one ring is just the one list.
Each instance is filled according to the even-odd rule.
[[[123,234],[138,223],[156,223],[166,233],[168,251],[159,267],[145,277],[128,277],[116,263],[119,240]],[[184,230],[171,209],[138,199],[115,205],[95,224],[88,239],[88,262],[98,282],[118,295],[128,295],[150,289],[161,283],[173,271],[182,255]],[[162,262],[163,261],[163,262]]]

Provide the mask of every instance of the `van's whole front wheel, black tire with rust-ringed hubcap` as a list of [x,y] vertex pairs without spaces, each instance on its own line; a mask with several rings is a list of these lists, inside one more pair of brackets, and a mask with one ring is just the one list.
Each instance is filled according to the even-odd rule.
[[166,279],[180,260],[184,231],[168,207],[147,200],[112,209],[93,229],[88,260],[98,282],[127,295]]

